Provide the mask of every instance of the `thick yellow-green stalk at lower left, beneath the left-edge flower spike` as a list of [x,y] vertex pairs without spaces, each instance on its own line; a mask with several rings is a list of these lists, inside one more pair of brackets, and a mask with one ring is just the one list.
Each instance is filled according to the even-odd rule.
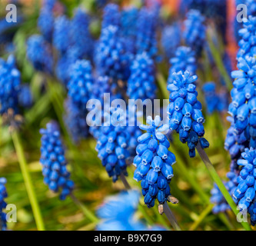
[[35,190],[32,184],[32,178],[28,171],[28,164],[27,164],[27,161],[25,160],[25,155],[22,148],[22,142],[17,131],[12,132],[12,140],[15,146],[16,153],[18,155],[19,165],[22,169],[22,176],[24,178],[25,188],[28,192],[28,198],[29,198],[30,204],[32,206],[32,211],[35,218],[35,224],[38,228],[38,231],[45,231],[45,224],[42,219],[42,214],[41,214],[39,204],[35,195]]

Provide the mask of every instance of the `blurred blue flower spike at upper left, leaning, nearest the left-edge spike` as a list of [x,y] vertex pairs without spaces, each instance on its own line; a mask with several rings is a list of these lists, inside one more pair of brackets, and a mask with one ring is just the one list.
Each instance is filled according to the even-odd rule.
[[38,71],[52,73],[53,58],[51,47],[42,35],[32,35],[27,42],[27,56]]

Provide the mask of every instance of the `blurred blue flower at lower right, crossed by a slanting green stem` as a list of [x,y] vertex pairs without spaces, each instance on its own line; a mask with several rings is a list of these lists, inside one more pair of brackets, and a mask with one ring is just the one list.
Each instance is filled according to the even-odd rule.
[[[232,195],[234,193],[234,190],[238,186],[238,175],[235,172],[230,171],[227,174],[227,178],[229,179],[229,181],[224,181],[224,186],[228,190],[229,194]],[[236,204],[238,203],[238,200],[234,197],[233,200]],[[212,209],[212,212],[214,214],[218,214],[220,212],[223,213],[231,209],[220,189],[218,188],[217,184],[214,184],[214,188],[211,189],[211,203],[215,204],[214,208]]]

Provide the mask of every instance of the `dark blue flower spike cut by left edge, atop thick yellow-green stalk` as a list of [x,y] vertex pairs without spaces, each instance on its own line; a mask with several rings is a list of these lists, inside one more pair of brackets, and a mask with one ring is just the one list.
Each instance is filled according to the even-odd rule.
[[9,108],[18,113],[18,93],[21,87],[21,75],[15,67],[15,58],[10,55],[7,62],[0,59],[0,115]]

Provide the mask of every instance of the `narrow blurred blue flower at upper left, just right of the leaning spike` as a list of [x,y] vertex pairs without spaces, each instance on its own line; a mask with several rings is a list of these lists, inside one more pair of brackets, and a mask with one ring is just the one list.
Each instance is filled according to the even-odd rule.
[[53,45],[61,54],[67,52],[70,45],[71,23],[65,15],[55,18]]

